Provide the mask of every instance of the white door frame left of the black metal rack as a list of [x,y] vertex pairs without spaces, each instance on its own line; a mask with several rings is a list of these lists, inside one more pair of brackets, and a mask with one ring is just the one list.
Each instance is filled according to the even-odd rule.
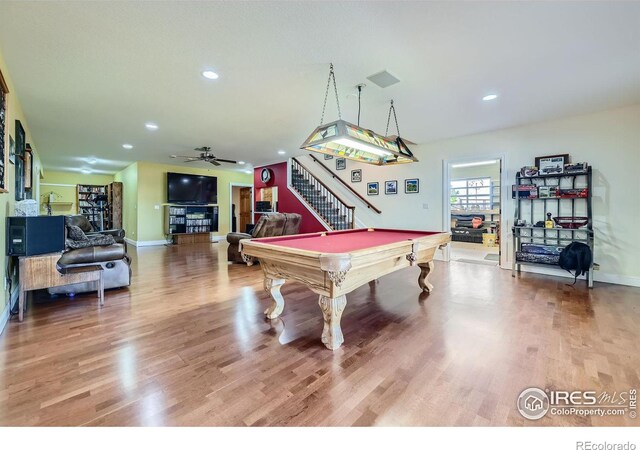
[[[451,165],[452,164],[464,164],[472,163],[476,161],[488,161],[491,159],[497,159],[500,161],[500,247],[498,249],[500,254],[500,261],[498,267],[503,269],[503,264],[507,264],[507,223],[505,222],[505,206],[508,200],[507,198],[507,156],[504,153],[489,153],[476,156],[467,156],[464,158],[451,158],[442,160],[442,229],[451,230]],[[510,192],[510,190],[509,190]],[[444,248],[444,260],[451,261],[451,247],[447,245]]]

